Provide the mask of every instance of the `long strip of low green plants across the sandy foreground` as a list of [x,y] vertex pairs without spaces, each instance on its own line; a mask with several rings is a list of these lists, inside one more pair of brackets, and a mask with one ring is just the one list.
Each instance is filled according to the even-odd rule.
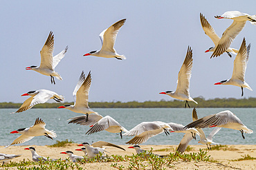
[[[56,161],[46,161],[46,162],[33,162],[30,160],[23,160],[20,162],[10,162],[9,164],[3,164],[4,169],[10,167],[16,167],[20,170],[37,170],[37,169],[86,169],[86,163],[93,162],[113,162],[111,167],[116,169],[166,169],[167,167],[174,167],[173,162],[178,162],[180,160],[190,162],[199,162],[199,161],[210,161],[210,156],[207,156],[207,151],[200,149],[198,153],[190,154],[181,154],[181,153],[170,153],[164,158],[156,156],[152,153],[152,149],[149,152],[144,152],[140,154],[133,154],[132,156],[102,156],[99,154],[95,158],[84,158],[78,162],[71,162],[69,158],[66,161],[56,160]],[[128,162],[127,164],[122,164],[122,162]]]

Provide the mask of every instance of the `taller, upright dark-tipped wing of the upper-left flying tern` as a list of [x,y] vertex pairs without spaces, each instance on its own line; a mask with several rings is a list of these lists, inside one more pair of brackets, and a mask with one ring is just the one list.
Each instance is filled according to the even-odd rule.
[[54,35],[50,32],[44,47],[42,48],[41,54],[41,64],[40,67],[53,70],[53,47],[54,45]]

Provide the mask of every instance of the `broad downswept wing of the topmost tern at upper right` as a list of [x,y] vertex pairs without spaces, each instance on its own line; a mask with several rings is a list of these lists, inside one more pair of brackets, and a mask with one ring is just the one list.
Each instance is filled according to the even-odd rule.
[[210,58],[214,56],[220,56],[223,54],[223,52],[226,52],[237,34],[243,30],[244,25],[246,25],[246,21],[234,20],[233,23],[226,29],[226,31],[223,32],[221,39],[219,40],[219,43]]

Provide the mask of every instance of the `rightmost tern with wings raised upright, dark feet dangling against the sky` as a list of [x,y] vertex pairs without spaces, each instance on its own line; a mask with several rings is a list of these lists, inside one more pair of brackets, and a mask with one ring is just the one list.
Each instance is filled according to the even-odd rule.
[[246,49],[246,40],[244,39],[241,43],[239,52],[235,57],[232,77],[228,80],[215,83],[214,85],[235,85],[241,87],[241,96],[244,96],[244,87],[246,89],[250,89],[250,91],[253,91],[253,89],[251,89],[248,83],[246,83],[246,81],[244,80],[246,74],[246,67],[249,60],[249,52],[250,44]]

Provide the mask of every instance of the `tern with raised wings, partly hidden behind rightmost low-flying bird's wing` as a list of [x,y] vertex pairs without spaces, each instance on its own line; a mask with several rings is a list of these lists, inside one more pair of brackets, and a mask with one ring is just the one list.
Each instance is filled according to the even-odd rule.
[[[196,114],[196,108],[193,109],[192,118],[193,118],[193,121],[198,120],[198,117],[197,117],[197,114]],[[205,134],[203,132],[203,129],[196,128],[196,130],[199,131],[199,136],[200,136],[199,143],[201,143],[203,145],[206,145],[207,147],[209,145],[208,149],[212,149],[211,146],[210,146],[211,144],[218,145],[218,143],[212,141],[212,138],[215,134],[217,134],[219,132],[220,129],[221,129],[221,127],[215,127],[212,130],[212,132],[209,134],[209,136],[206,138]]]

